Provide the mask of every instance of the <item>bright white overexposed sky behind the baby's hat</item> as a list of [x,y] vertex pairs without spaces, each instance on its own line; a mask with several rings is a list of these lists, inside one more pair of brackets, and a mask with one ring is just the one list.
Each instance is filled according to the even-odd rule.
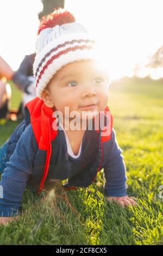
[[[65,0],[73,13],[102,44],[114,78],[163,77],[163,68],[147,70],[148,57],[163,45],[162,0]],[[40,0],[0,0],[0,54],[16,70],[25,54],[35,51]]]

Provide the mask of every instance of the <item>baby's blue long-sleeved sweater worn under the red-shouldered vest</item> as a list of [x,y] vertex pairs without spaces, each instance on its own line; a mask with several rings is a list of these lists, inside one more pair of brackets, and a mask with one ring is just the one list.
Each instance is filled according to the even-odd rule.
[[[23,130],[23,123],[18,130]],[[13,133],[14,136],[15,133]],[[99,138],[95,138],[95,131],[86,130],[80,156],[73,159],[67,153],[64,131],[59,130],[58,136],[52,144],[52,157],[47,180],[71,178],[82,172],[83,165],[91,168],[96,161],[97,139]],[[104,169],[105,196],[126,196],[126,166],[113,128],[110,141],[103,143],[103,152],[101,169]],[[3,198],[0,198],[0,216],[17,215],[24,189],[29,187],[35,191],[35,187],[42,177],[40,167],[45,165],[44,154],[43,151],[38,150],[32,125],[29,124],[15,144],[13,152],[8,150],[7,167],[1,175],[0,182],[0,186],[3,187]]]

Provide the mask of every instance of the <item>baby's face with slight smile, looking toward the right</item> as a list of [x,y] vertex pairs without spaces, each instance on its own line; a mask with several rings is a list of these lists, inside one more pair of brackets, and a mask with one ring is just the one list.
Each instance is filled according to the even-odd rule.
[[[69,113],[77,111],[80,119],[82,112],[92,114],[104,111],[108,102],[108,76],[93,60],[80,60],[69,63],[54,75],[48,84],[52,106],[65,116],[65,107]],[[92,106],[88,106],[92,105]],[[87,114],[86,119],[91,118]]]

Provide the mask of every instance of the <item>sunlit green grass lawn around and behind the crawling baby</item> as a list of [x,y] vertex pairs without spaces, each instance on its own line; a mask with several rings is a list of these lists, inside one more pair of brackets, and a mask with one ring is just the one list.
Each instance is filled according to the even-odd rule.
[[[89,188],[68,191],[65,200],[26,190],[22,216],[0,227],[1,245],[162,245],[163,81],[123,78],[110,87],[109,107],[127,168],[128,194],[137,208],[121,208],[103,196],[103,172]],[[16,104],[16,101],[15,101]],[[2,144],[17,123],[0,127]],[[79,217],[80,216],[80,217]]]

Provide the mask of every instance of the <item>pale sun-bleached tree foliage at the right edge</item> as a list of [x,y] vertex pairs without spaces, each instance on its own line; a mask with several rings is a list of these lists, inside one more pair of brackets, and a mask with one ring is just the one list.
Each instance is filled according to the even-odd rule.
[[159,68],[163,66],[163,46],[161,46],[153,56],[149,57],[148,68]]

